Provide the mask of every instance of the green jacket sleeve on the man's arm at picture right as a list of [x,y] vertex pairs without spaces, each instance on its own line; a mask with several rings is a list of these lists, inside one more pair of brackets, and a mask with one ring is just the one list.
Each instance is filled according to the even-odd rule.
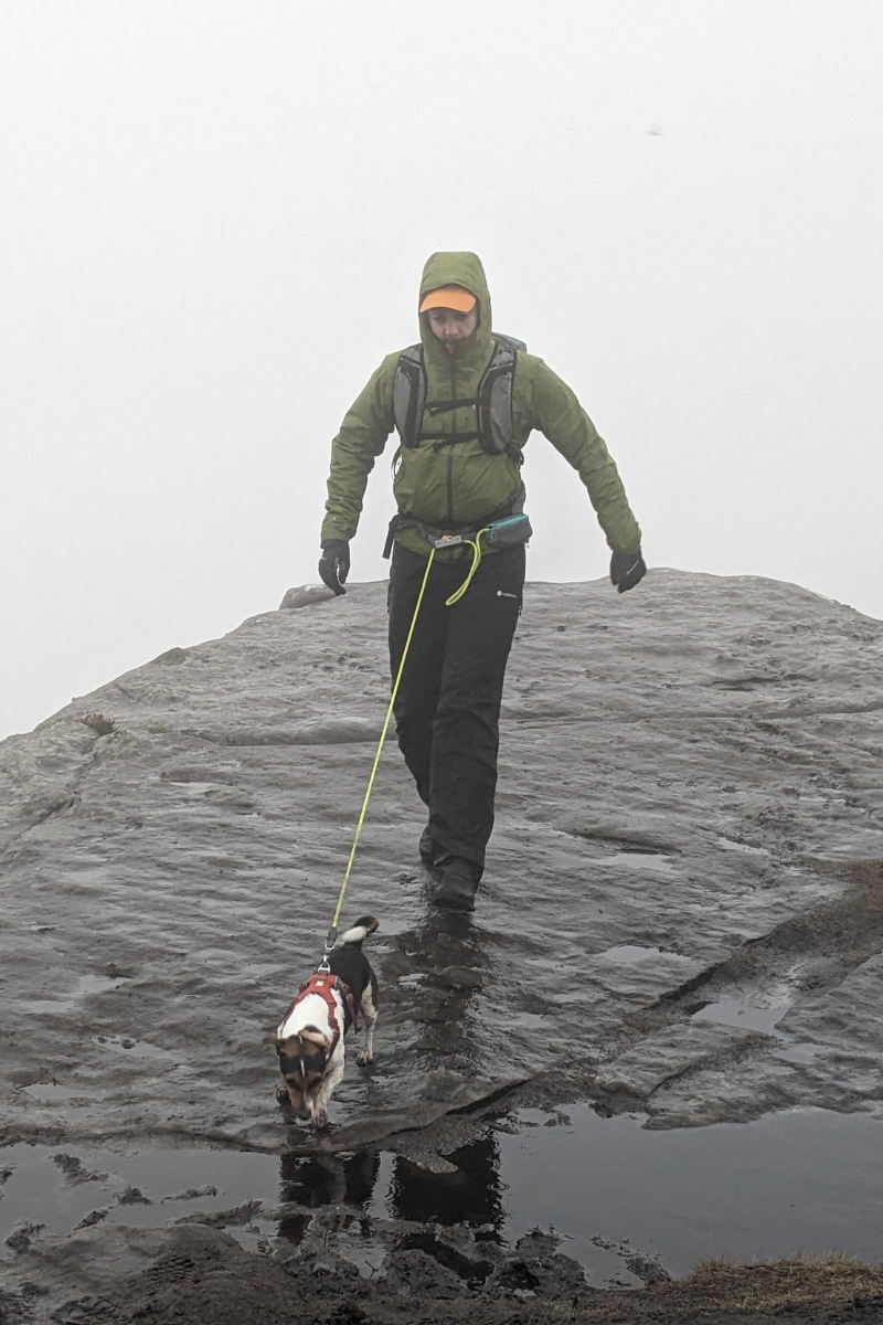
[[604,440],[568,384],[541,359],[531,359],[531,427],[539,428],[579,473],[612,551],[637,553],[641,529]]

